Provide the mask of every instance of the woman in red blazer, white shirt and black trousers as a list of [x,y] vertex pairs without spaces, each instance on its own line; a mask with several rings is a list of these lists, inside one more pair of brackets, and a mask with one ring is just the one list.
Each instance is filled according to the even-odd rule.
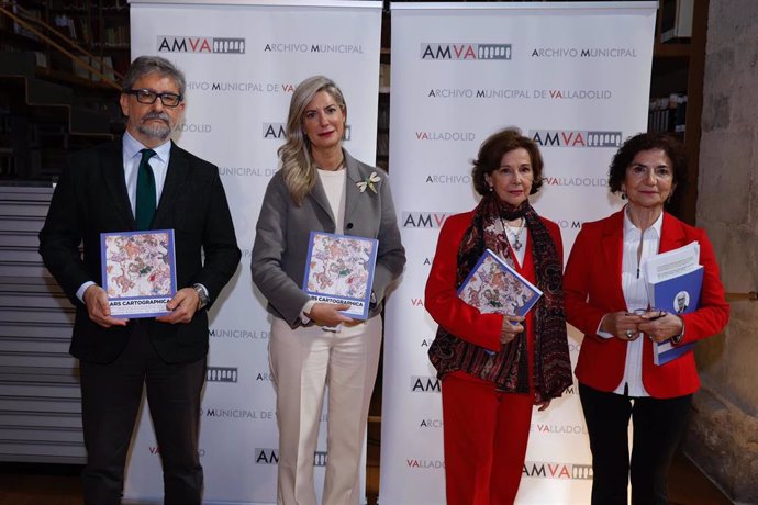
[[[675,138],[644,133],[626,141],[611,164],[609,186],[628,203],[584,223],[566,266],[566,313],[584,334],[576,374],[592,449],[592,504],[626,504],[629,475],[633,504],[668,503],[669,467],[700,381],[691,351],[656,366],[653,343],[700,340],[720,333],[728,319],[705,232],[664,211],[685,173],[684,150]],[[650,310],[640,267],[694,240],[704,268],[699,308],[689,314]],[[634,314],[640,310],[643,315]]]

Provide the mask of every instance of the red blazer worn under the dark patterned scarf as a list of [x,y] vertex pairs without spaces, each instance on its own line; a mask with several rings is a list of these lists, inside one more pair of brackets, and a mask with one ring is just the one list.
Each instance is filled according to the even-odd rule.
[[[449,216],[437,239],[437,250],[432,262],[432,270],[426,281],[424,306],[434,321],[450,334],[466,341],[491,350],[500,350],[500,329],[503,326],[501,314],[482,314],[456,293],[456,276],[458,271],[458,248],[466,229],[471,225],[473,211]],[[558,257],[564,257],[564,245],[560,239],[560,228],[554,222],[540,217],[558,250]],[[527,240],[524,269],[520,271],[530,282],[535,282],[534,268],[526,268],[532,263],[532,239]],[[531,270],[531,274],[526,273]],[[526,273],[526,274],[525,274]],[[527,314],[527,328],[532,312]]]

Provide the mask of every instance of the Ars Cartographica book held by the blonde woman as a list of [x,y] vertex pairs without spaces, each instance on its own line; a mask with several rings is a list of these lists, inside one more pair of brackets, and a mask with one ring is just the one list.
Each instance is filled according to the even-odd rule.
[[376,238],[311,232],[303,291],[311,300],[350,305],[341,313],[368,318],[377,262]]

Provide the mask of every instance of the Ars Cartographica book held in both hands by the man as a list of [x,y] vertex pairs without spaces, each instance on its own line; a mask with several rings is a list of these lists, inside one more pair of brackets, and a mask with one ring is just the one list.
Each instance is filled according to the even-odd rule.
[[155,317],[169,314],[177,292],[172,229],[100,234],[102,289],[111,316]]

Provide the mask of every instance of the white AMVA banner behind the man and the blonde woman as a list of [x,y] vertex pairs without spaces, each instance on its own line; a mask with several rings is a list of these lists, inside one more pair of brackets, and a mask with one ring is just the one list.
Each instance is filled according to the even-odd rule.
[[[219,166],[242,265],[211,310],[202,404],[204,503],[276,503],[278,431],[269,377],[270,316],[250,279],[260,202],[278,169],[289,101],[304,78],[325,75],[348,109],[345,147],[374,164],[381,2],[131,2],[132,57],[164,56],[187,76],[187,114],[174,138]],[[157,444],[146,415],[127,472],[127,498],[161,498]],[[316,461],[321,487],[325,424]],[[319,490],[319,494],[321,491]]]

